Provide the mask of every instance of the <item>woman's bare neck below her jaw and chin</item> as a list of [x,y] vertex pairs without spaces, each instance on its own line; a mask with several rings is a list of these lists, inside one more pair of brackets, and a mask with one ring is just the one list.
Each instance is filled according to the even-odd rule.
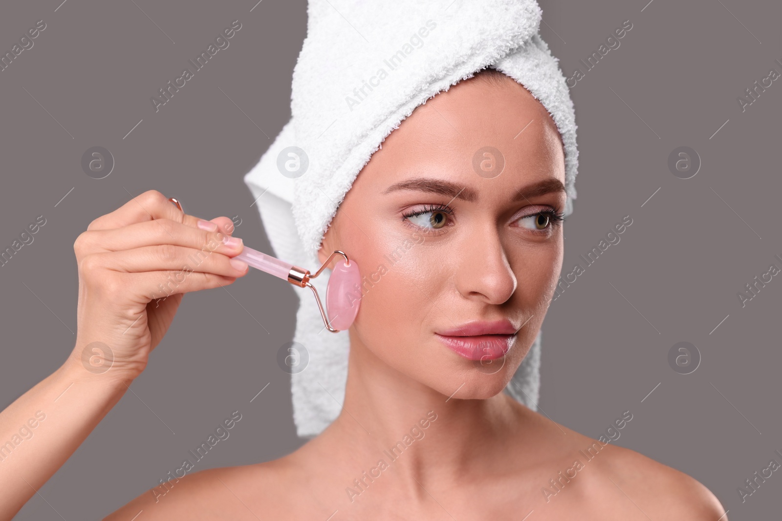
[[[416,481],[426,488],[442,476],[468,472],[472,479],[481,469],[493,471],[496,462],[487,458],[487,447],[507,445],[520,435],[518,408],[504,393],[462,399],[458,384],[435,391],[353,340],[343,411],[328,435],[342,442],[362,470],[383,460],[398,467],[394,473],[411,489]],[[427,370],[436,373],[437,368]],[[501,450],[490,452],[503,457]]]

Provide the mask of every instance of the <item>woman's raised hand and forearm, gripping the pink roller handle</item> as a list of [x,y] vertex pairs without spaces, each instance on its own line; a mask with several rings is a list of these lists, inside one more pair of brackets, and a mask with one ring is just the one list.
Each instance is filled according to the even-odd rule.
[[24,443],[3,446],[0,520],[15,516],[120,401],[166,334],[182,294],[231,284],[247,272],[244,263],[231,265],[242,242],[222,242],[233,231],[231,219],[201,224],[151,190],[79,235],[76,347],[0,412],[0,443],[36,429]]

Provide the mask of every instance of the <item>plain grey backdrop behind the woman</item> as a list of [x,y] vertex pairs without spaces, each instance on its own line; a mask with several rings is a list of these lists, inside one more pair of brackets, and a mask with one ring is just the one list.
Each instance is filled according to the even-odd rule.
[[[0,267],[3,408],[74,347],[73,243],[92,219],[155,188],[180,198],[188,213],[239,216],[235,234],[270,251],[242,177],[289,119],[307,27],[303,0],[254,8],[254,0],[60,1],[0,6],[3,53],[37,20],[47,24],[0,72],[0,246],[36,216],[47,219]],[[579,59],[615,27],[633,23],[620,47],[572,87],[579,194],[565,224],[563,275],[623,216],[633,224],[551,303],[540,409],[592,437],[629,409],[633,419],[615,443],[694,476],[732,520],[778,516],[777,473],[744,504],[737,487],[780,461],[773,451],[782,450],[782,277],[744,308],[737,292],[772,262],[782,266],[773,257],[782,256],[782,80],[745,112],[737,96],[772,67],[782,72],[774,62],[782,59],[782,5],[540,3],[543,39],[566,76],[583,70]],[[156,113],[149,98],[236,19],[242,29],[230,47]],[[92,146],[116,160],[105,179],[81,170]],[[679,146],[702,160],[688,180],[667,167]],[[228,291],[188,294],[134,392],[15,519],[106,516],[178,468],[236,409],[241,421],[196,470],[299,447],[289,376],[275,362],[292,338],[294,291],[253,271]],[[667,362],[679,341],[701,353],[694,373]]]

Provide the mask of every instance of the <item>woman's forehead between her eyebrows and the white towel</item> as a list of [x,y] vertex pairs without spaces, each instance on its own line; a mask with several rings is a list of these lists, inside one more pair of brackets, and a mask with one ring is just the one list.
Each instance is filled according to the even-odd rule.
[[[564,183],[561,139],[543,105],[514,80],[505,87],[469,81],[418,106],[372,155],[361,184],[376,192],[416,177],[497,177],[495,186],[508,187],[551,177]],[[501,170],[494,175],[486,166]]]

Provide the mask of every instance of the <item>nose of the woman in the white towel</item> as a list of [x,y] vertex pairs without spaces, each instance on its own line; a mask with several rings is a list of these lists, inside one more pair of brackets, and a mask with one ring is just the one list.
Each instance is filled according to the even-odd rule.
[[486,304],[507,302],[516,291],[516,276],[496,227],[484,227],[465,237],[457,268],[457,288],[466,298]]

